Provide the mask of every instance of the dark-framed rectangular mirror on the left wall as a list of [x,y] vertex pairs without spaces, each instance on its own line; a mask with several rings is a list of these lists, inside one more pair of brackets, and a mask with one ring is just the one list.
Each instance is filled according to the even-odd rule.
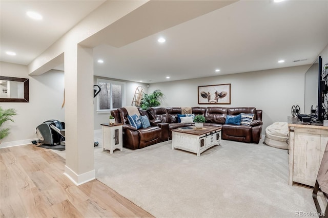
[[0,102],[29,102],[29,79],[0,76]]

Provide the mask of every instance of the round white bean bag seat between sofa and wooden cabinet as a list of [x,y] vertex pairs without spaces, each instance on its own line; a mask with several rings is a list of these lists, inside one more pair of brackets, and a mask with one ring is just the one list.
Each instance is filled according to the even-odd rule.
[[264,143],[276,148],[288,149],[288,123],[275,122],[265,129]]

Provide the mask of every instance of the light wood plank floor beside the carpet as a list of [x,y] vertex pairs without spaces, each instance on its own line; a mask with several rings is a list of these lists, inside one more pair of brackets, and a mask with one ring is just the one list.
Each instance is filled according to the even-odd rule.
[[153,217],[98,180],[75,186],[50,149],[2,148],[0,161],[1,217]]

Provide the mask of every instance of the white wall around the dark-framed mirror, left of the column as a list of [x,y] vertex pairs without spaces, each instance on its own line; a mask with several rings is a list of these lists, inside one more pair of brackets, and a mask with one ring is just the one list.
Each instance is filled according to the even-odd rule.
[[27,66],[0,62],[2,76],[29,79],[30,102],[1,102],[1,106],[15,108],[15,122],[6,122],[3,126],[10,127],[10,135],[2,139],[0,147],[30,144],[37,138],[35,128],[49,119],[64,121],[64,72],[49,71],[40,76],[28,76]]

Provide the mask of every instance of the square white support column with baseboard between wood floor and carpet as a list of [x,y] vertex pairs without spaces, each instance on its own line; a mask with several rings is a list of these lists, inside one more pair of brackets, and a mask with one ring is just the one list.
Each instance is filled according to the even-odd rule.
[[93,51],[65,51],[65,175],[76,185],[95,179],[93,159]]

